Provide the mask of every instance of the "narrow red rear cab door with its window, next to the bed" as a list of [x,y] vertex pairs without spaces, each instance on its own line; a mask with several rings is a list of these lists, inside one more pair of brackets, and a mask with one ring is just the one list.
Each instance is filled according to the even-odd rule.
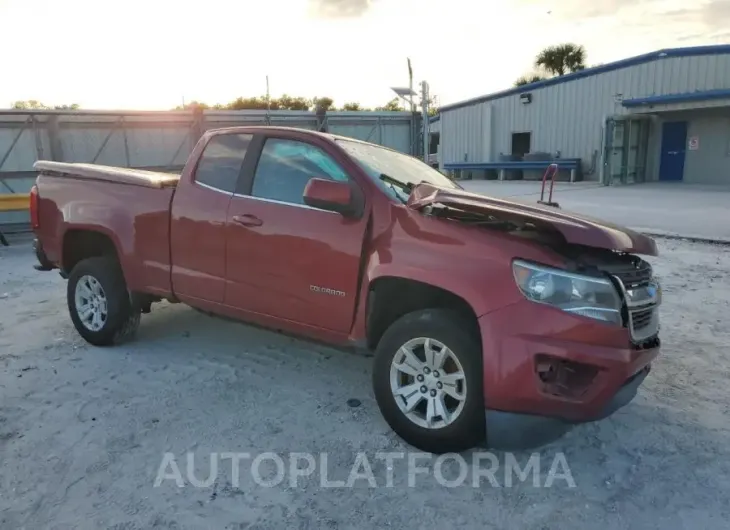
[[172,285],[180,297],[223,303],[226,277],[226,214],[251,134],[211,137],[190,181],[172,200]]

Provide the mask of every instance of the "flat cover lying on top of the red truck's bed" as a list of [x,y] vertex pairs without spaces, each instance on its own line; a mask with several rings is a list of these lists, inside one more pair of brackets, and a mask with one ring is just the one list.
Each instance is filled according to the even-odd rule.
[[180,175],[175,173],[161,173],[98,164],[75,164],[39,160],[33,165],[33,168],[37,171],[42,171],[48,176],[69,175],[74,178],[103,180],[117,184],[129,184],[132,186],[144,186],[157,189],[174,188],[180,180]]

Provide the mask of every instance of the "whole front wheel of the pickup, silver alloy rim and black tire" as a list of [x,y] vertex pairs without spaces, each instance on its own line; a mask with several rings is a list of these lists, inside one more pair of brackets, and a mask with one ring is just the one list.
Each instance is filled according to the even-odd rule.
[[396,320],[375,352],[381,413],[424,451],[464,451],[484,439],[481,347],[452,311],[426,309]]

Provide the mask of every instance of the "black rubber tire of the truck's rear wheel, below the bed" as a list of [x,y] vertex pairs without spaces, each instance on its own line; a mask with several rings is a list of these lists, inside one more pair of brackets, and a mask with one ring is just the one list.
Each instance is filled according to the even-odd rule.
[[[79,282],[83,282],[81,287],[78,287]],[[106,300],[106,315],[100,319],[100,325],[90,327],[85,323],[88,319],[82,318],[79,313],[76,295],[77,288],[80,292],[88,292],[90,285],[96,285],[94,282],[98,283],[100,293]],[[141,311],[132,308],[124,275],[119,262],[113,257],[87,258],[76,264],[68,278],[66,298],[76,331],[94,346],[121,344],[137,332]]]

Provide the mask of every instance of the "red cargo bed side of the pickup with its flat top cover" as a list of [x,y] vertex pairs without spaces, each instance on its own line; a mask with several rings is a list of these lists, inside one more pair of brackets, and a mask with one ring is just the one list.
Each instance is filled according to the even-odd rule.
[[51,263],[68,266],[63,260],[74,234],[98,233],[113,243],[130,289],[161,296],[171,291],[170,203],[179,175],[44,160],[34,168],[35,232]]

